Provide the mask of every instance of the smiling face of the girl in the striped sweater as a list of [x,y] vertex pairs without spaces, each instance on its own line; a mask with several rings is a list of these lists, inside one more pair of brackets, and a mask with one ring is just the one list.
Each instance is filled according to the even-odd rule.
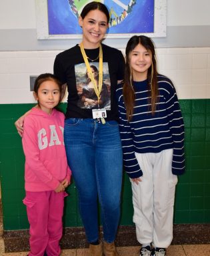
[[133,81],[147,79],[148,69],[152,63],[151,51],[147,51],[140,43],[129,53],[129,63],[133,75]]

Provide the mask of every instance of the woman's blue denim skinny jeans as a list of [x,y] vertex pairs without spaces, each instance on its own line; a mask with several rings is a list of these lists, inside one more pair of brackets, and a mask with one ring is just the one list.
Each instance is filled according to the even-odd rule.
[[65,121],[64,139],[87,241],[99,239],[99,198],[103,239],[112,243],[119,224],[123,172],[118,123],[70,118]]

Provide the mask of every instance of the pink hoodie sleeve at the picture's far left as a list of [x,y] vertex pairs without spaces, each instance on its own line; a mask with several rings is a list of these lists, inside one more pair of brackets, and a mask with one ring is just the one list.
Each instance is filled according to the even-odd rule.
[[26,165],[36,175],[36,177],[47,184],[51,189],[59,186],[59,181],[45,168],[43,162],[39,160],[39,147],[37,145],[37,133],[35,124],[25,118],[23,131],[23,151],[25,153]]

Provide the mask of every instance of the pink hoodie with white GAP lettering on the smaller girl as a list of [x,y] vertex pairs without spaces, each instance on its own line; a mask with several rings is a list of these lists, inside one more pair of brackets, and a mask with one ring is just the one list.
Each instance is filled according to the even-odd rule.
[[33,108],[24,120],[25,190],[55,190],[64,179],[70,181],[63,142],[63,113],[53,109],[48,115]]

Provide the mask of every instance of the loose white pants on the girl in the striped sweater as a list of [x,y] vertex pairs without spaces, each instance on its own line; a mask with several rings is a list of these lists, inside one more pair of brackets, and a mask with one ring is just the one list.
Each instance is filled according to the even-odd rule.
[[173,205],[177,175],[171,171],[173,149],[160,153],[135,153],[143,171],[137,185],[131,180],[133,222],[139,243],[167,248],[173,239]]

